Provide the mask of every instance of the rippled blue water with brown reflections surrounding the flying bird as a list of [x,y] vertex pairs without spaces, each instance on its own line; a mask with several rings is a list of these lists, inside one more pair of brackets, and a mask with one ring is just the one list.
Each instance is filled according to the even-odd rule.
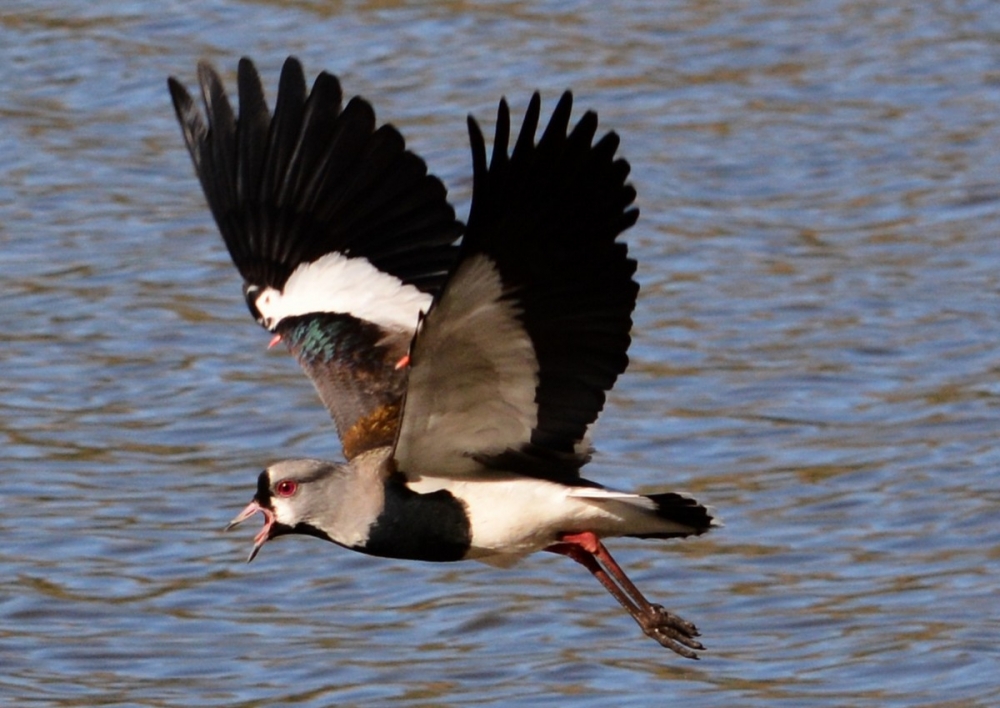
[[[221,529],[332,425],[247,316],[166,92],[295,54],[467,213],[464,121],[572,88],[642,218],[632,366],[588,475],[726,527],[618,541],[703,631],[583,569],[243,563]],[[1000,703],[1000,7],[991,2],[7,0],[0,702]]]

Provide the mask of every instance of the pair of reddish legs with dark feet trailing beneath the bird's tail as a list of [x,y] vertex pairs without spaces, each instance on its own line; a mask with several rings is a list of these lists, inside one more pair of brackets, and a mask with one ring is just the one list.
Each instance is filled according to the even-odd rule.
[[563,534],[559,543],[545,550],[569,556],[589,570],[632,615],[642,631],[662,646],[689,659],[698,658],[692,650],[705,648],[695,639],[698,628],[647,600],[595,534],[589,531]]

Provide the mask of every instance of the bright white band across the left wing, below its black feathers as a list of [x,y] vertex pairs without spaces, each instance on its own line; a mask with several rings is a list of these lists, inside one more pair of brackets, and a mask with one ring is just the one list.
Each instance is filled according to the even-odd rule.
[[313,312],[353,315],[389,329],[412,332],[431,296],[399,278],[383,273],[364,258],[328,253],[292,272],[285,287],[267,288],[257,296],[264,326]]

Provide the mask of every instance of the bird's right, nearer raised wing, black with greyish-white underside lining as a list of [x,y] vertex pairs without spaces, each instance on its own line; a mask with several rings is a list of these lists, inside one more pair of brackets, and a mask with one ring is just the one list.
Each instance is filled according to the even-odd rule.
[[472,211],[459,264],[411,351],[396,461],[411,476],[502,468],[568,481],[584,438],[628,365],[635,261],[616,239],[632,226],[618,137],[596,143],[589,112],[569,130],[565,93],[534,142],[529,104],[508,156],[501,102],[493,156],[469,119]]

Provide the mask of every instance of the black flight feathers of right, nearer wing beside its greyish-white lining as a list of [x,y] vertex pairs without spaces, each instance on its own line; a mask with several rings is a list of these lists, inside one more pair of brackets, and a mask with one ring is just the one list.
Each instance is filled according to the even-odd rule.
[[[594,143],[593,112],[569,130],[566,92],[535,143],[540,103],[536,93],[508,155],[510,112],[501,101],[488,166],[482,132],[469,118],[473,197],[462,258],[485,253],[496,263],[538,358],[538,424],[517,452],[550,470],[558,461],[561,476],[573,477],[587,461],[579,449],[587,427],[628,365],[639,286],[636,263],[616,239],[639,212],[630,208],[629,165],[615,159],[617,135]],[[505,457],[509,464],[517,456]],[[531,466],[519,467],[533,474]]]

